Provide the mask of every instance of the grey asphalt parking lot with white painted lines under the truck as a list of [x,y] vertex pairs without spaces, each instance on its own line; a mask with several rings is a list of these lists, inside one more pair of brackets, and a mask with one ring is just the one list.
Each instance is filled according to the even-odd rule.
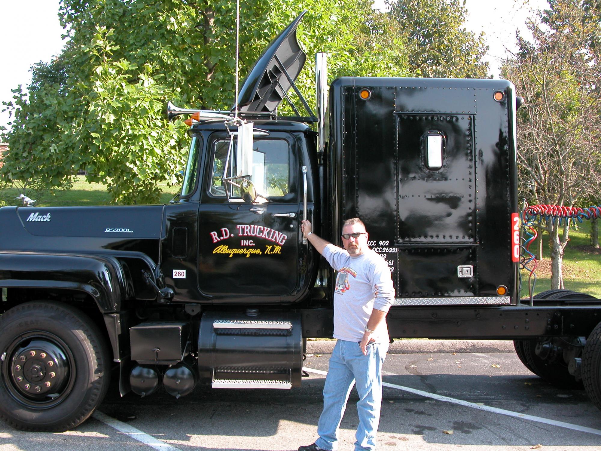
[[[301,388],[198,387],[179,400],[163,390],[144,399],[113,392],[74,431],[20,432],[0,424],[0,449],[296,450],[316,439],[322,408],[329,355],[312,350]],[[601,449],[601,411],[584,390],[546,384],[513,352],[482,350],[510,351],[389,354],[378,449]],[[340,450],[353,449],[356,400],[353,391]]]

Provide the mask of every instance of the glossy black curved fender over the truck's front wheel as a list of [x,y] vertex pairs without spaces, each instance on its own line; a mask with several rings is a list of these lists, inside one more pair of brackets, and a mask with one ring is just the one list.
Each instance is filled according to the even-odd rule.
[[133,296],[126,270],[114,256],[0,252],[0,288],[85,292],[102,313],[121,310]]

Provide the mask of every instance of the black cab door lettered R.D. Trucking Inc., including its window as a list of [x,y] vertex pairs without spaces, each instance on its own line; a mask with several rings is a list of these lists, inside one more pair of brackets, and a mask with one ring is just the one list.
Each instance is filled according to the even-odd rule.
[[227,161],[229,135],[212,133],[207,144],[198,218],[200,290],[213,302],[257,301],[256,296],[280,302],[299,281],[302,183],[296,140],[285,132],[255,138],[249,175],[265,198],[254,203],[245,203],[239,188],[222,181],[225,167],[225,177],[239,175],[236,152]]

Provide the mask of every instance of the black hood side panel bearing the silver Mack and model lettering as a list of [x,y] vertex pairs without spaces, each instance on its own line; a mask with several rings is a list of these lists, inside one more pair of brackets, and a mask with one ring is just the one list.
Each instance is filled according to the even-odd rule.
[[[158,239],[163,207],[17,207],[14,211],[23,229],[35,236]],[[9,213],[8,207],[2,210]]]

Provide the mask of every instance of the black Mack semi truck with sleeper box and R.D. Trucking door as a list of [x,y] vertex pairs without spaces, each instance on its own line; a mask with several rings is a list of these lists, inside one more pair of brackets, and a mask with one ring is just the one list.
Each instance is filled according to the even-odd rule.
[[[304,343],[332,336],[334,273],[303,239],[341,244],[359,216],[392,271],[391,339],[514,340],[601,408],[601,302],[519,299],[516,97],[492,79],[338,78],[317,57],[315,114],[294,85],[301,13],[233,111],[191,114],[166,205],[0,209],[0,416],[64,431],[121,394],[301,385]],[[288,90],[307,115],[278,115]],[[117,383],[118,382],[118,383]]]

